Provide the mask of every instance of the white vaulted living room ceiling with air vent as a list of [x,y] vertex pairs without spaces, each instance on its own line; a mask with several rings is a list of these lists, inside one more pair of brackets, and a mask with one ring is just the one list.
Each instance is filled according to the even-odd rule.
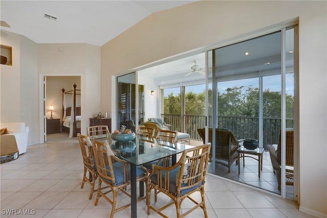
[[[1,27],[36,43],[101,46],[151,13],[196,1],[0,1]],[[57,18],[44,19],[44,14]]]

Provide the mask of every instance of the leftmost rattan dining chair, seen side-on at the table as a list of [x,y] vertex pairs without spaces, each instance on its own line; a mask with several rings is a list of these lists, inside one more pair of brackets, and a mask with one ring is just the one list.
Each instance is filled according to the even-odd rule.
[[80,148],[83,158],[83,166],[84,166],[81,188],[84,187],[84,183],[86,182],[90,184],[91,191],[90,191],[89,199],[91,199],[93,193],[97,191],[94,190],[94,187],[95,187],[96,179],[98,178],[97,167],[95,164],[93,150],[92,150],[92,143],[89,140],[89,138],[85,135],[81,135],[80,133],[78,133],[77,137],[80,143]]

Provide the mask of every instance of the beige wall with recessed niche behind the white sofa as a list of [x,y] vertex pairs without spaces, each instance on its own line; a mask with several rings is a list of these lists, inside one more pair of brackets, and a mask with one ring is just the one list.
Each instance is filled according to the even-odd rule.
[[24,122],[30,127],[28,146],[38,142],[37,44],[7,32],[1,44],[12,47],[12,65],[1,64],[0,122]]

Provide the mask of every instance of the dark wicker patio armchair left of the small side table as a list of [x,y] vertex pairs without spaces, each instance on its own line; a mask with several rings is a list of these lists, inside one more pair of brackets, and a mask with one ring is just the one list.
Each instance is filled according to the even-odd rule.
[[[205,129],[197,130],[200,137],[205,142]],[[216,163],[222,164],[228,167],[228,173],[230,173],[230,166],[233,162],[237,160],[237,149],[239,148],[239,143],[243,140],[236,139],[234,134],[228,129],[216,129],[216,140],[213,142],[213,130],[209,128],[209,141],[213,146],[215,146],[215,160]],[[210,159],[212,160],[212,153],[210,154]]]

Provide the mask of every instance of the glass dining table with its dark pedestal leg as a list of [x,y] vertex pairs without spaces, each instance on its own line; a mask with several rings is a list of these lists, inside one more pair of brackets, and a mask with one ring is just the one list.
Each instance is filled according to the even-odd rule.
[[[172,157],[172,164],[176,163],[176,156],[185,149],[194,148],[188,144],[170,143],[154,138],[136,136],[132,141],[114,141],[109,139],[111,150],[121,159],[130,163],[131,179],[131,217],[137,217],[137,191],[136,191],[136,166]],[[140,183],[139,196],[144,196],[144,185]]]

